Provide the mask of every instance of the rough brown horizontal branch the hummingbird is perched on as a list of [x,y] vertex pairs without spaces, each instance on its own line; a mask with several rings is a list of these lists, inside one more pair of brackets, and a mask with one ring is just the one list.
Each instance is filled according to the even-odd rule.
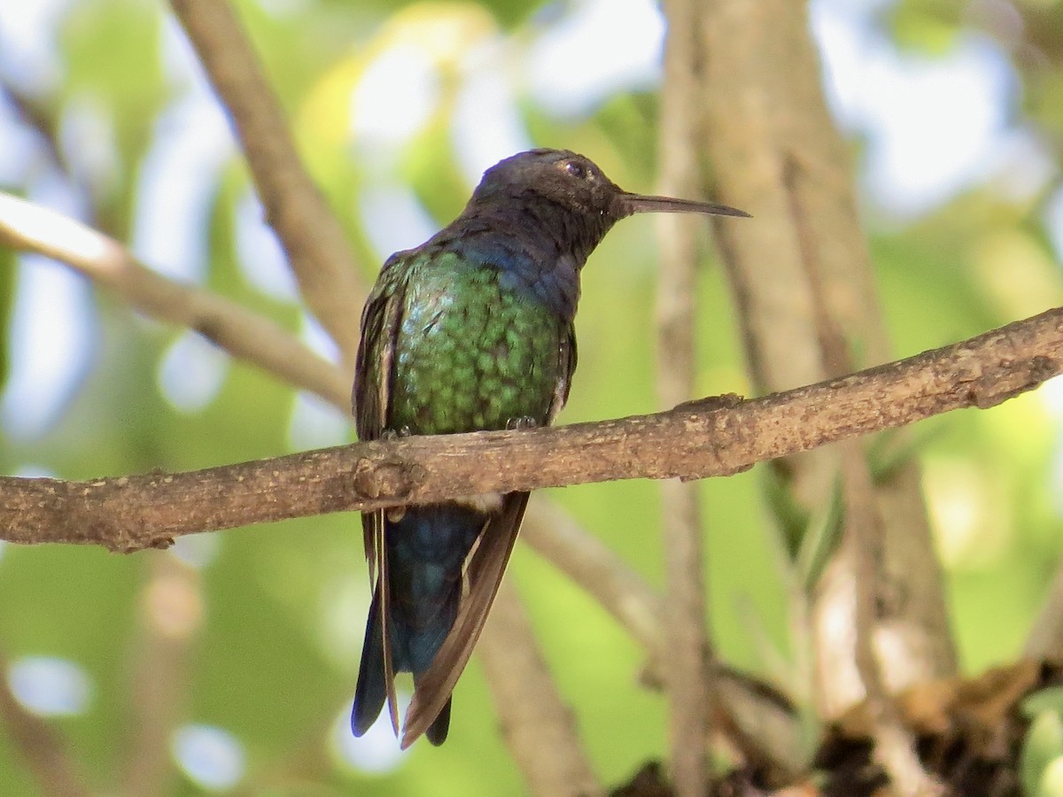
[[1063,309],[915,357],[762,398],[651,416],[304,452],[175,474],[0,478],[0,539],[113,550],[325,512],[622,478],[705,478],[961,407],[1063,372]]

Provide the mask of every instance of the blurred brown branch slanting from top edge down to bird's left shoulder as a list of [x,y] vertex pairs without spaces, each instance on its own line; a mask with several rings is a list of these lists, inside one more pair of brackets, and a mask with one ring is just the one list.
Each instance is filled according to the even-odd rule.
[[223,0],[172,0],[174,13],[229,109],[266,217],[288,254],[306,305],[354,371],[366,291],[335,215],[296,152],[281,105]]

